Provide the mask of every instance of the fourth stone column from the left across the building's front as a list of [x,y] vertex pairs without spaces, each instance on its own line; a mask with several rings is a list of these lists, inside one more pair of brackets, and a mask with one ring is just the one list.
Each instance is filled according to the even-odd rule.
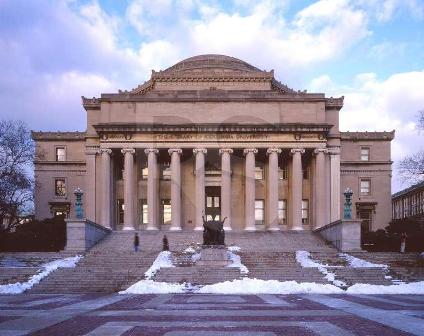
[[181,230],[181,162],[179,148],[168,149],[171,155],[171,227],[172,231]]

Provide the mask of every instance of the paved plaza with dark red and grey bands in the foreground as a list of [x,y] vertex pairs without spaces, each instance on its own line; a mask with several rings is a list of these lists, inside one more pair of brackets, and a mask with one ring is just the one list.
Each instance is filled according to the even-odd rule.
[[424,296],[0,295],[0,335],[424,335]]

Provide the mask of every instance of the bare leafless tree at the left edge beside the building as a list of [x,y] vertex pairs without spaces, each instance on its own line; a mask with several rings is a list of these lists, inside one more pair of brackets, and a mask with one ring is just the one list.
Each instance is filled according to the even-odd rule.
[[19,224],[32,205],[34,142],[21,121],[0,121],[0,234]]

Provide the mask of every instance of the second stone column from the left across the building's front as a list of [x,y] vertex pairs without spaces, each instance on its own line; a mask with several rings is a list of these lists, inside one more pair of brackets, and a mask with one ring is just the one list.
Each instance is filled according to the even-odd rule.
[[134,148],[123,148],[124,154],[124,228],[123,230],[134,230]]

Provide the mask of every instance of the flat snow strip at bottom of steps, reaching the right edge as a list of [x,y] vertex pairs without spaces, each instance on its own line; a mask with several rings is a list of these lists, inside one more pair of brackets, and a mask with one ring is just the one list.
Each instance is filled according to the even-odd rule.
[[424,281],[400,283],[398,285],[354,284],[346,290],[347,294],[424,294]]

